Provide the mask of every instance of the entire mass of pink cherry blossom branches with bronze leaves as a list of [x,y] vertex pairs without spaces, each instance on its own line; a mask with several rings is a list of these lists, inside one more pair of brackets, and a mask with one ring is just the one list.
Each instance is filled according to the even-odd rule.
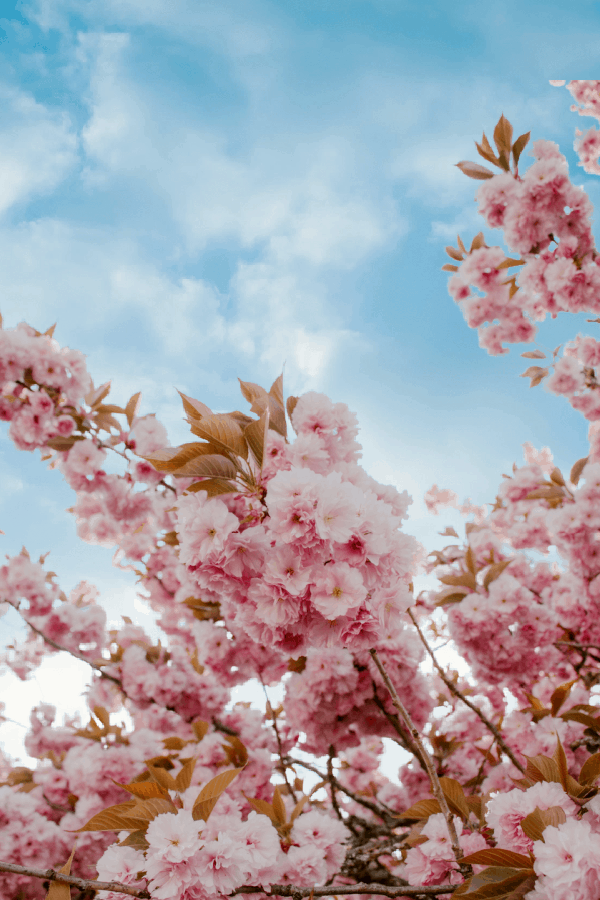
[[[567,86],[600,119],[600,82]],[[579,137],[581,164],[600,174],[598,132]],[[551,142],[534,142],[520,173],[527,139],[513,143],[502,117],[497,155],[479,147],[501,172],[460,164],[483,180],[486,223],[522,257],[482,235],[450,248],[451,294],[490,353],[532,341],[547,313],[599,309],[589,200]],[[182,395],[200,440],[167,447],[154,416],[137,415],[139,395],[107,403],[109,385],[95,388],[51,331],[0,329],[13,442],[63,474],[80,537],[136,572],[162,630],[154,643],[129,619],[109,627],[93,585],[67,596],[25,550],[0,566],[0,613],[27,625],[0,662],[25,679],[66,652],[91,673],[89,722],[59,725],[43,704],[25,742],[35,768],[0,754],[2,897],[42,900],[43,871],[77,833],[81,900],[358,883],[401,900],[409,886],[597,900],[598,365],[600,342],[579,335],[526,373],[589,421],[588,457],[566,476],[548,448],[525,445],[490,509],[434,485],[430,512],[470,521],[423,563],[402,530],[410,498],[360,466],[344,404],[315,392],[286,403],[281,379],[268,392],[242,382],[254,418]],[[437,582],[415,598],[419,565]],[[467,676],[441,666],[432,636],[452,642]],[[280,686],[281,703],[235,703],[248,681]],[[400,754],[394,781],[384,740]],[[117,884],[96,893],[96,880]]]

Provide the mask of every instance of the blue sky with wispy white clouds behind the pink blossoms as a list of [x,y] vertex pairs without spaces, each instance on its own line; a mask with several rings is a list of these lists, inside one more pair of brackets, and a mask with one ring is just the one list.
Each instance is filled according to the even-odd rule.
[[[432,483],[483,503],[525,441],[565,468],[585,454],[583,420],[518,377],[525,348],[479,349],[440,268],[483,225],[454,163],[502,112],[557,141],[598,201],[572,150],[590,123],[548,80],[597,76],[599,39],[586,0],[0,2],[5,324],[57,321],[113,402],[141,389],[173,443],[176,387],[228,409],[238,375],[267,384],[285,364],[288,392],[358,413],[367,470],[409,490],[409,530],[439,546],[460,519],[427,516]],[[560,317],[540,344],[593,327]],[[58,473],[3,432],[3,552],[50,550],[65,589],[87,578],[131,612],[133,579],[77,541]]]

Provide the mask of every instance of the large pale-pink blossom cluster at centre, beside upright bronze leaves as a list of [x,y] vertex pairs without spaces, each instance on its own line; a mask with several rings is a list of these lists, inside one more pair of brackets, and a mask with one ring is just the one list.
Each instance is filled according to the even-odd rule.
[[292,656],[366,649],[412,602],[419,547],[399,530],[409,497],[358,465],[344,404],[310,392],[291,418],[297,439],[267,444],[261,515],[252,498],[177,500],[179,558],[233,632]]

